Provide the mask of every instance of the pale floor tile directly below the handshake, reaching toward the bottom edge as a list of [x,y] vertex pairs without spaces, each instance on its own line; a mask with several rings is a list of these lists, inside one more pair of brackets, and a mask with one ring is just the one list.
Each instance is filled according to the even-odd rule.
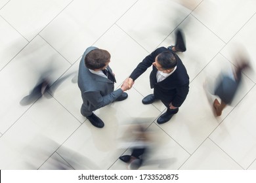
[[[130,124],[137,122],[137,120],[143,120],[148,123],[153,122],[156,116],[160,112],[152,107],[141,107],[141,105],[135,105],[137,98],[141,96],[139,93],[133,89],[129,90],[129,97],[125,101],[114,102],[112,105],[100,108],[95,111],[95,114],[100,117],[105,126],[103,129],[98,129],[91,125],[91,123],[86,120],[84,124],[74,135],[66,141],[63,146],[83,154],[78,157],[76,155],[66,152],[62,152],[60,148],[57,152],[62,156],[72,167],[75,169],[91,169],[95,167],[96,169],[108,169],[113,161],[115,161],[120,154],[121,150],[117,149],[117,137],[119,137],[119,127],[120,125]],[[139,110],[140,109],[140,110]],[[150,115],[148,115],[150,114]],[[139,116],[139,117],[138,117]],[[88,151],[90,149],[90,151]],[[80,157],[80,158],[79,158]],[[86,167],[86,163],[76,162],[93,162],[92,167]],[[74,159],[70,162],[69,159]],[[108,159],[108,161],[104,160]]]

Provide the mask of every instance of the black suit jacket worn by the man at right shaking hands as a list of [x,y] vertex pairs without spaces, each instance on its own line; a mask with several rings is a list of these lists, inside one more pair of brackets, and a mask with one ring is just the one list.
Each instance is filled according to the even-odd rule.
[[[142,60],[142,62],[137,65],[133,73],[131,73],[130,78],[136,80],[142,73],[148,69],[148,67],[152,66],[152,72],[150,73],[150,87],[154,88],[154,95],[157,99],[161,99],[163,103],[172,103],[174,107],[181,107],[182,103],[186,99],[186,95],[188,95],[189,90],[189,77],[186,72],[186,68],[184,67],[181,59],[177,56],[177,69],[174,73],[165,80],[161,82],[157,82],[156,73],[158,69],[152,65],[155,61],[156,56],[161,52],[166,52],[168,50],[165,47],[161,47],[156,49],[150,55],[146,56]],[[175,54],[175,53],[174,53]]]

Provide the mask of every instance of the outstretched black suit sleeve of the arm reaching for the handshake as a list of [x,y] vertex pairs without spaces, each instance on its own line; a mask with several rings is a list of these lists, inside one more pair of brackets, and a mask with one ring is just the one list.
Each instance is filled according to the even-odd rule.
[[166,48],[158,48],[150,55],[146,56],[146,58],[144,58],[142,62],[140,62],[139,65],[137,65],[137,67],[133,70],[133,73],[131,73],[129,77],[133,80],[139,78],[139,76],[142,75],[146,71],[146,69],[148,69],[148,67],[152,66],[152,63],[155,61],[156,56],[158,56],[158,54],[160,54],[161,50],[163,49]]

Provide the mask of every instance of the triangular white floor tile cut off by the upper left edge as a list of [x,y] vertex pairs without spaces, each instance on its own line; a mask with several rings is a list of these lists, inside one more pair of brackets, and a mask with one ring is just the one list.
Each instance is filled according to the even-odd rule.
[[[1,1],[0,1],[1,2]],[[0,71],[11,61],[28,41],[24,39],[11,25],[9,25],[2,17],[0,17]]]

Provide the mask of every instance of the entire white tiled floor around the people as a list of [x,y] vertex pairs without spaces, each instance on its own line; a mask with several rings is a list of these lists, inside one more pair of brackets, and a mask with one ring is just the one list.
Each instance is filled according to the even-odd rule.
[[[127,169],[118,158],[130,149],[119,138],[125,125],[142,121],[158,146],[140,169],[256,170],[256,1],[0,0],[0,27],[0,169]],[[81,116],[74,80],[88,46],[112,54],[119,88],[145,56],[174,43],[178,27],[186,36],[187,51],[179,56],[190,92],[171,121],[156,123],[161,102],[141,103],[152,92],[150,69],[127,100],[96,110],[103,129]],[[253,69],[216,118],[203,82],[235,67],[239,46]],[[57,80],[51,92],[20,105],[50,65]]]

